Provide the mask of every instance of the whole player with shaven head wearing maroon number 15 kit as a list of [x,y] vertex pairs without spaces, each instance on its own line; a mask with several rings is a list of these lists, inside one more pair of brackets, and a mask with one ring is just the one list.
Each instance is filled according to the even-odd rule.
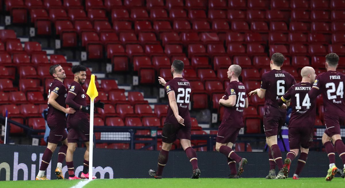
[[[225,90],[225,95],[219,100],[219,105],[224,106],[224,115],[218,128],[216,150],[227,157],[228,166],[231,170],[228,178],[238,178],[243,173],[243,166],[247,159],[239,157],[232,149],[243,124],[243,111],[248,108],[246,88],[238,80],[241,74],[239,65],[231,65],[228,69],[230,83]],[[236,171],[238,163],[238,171]]]

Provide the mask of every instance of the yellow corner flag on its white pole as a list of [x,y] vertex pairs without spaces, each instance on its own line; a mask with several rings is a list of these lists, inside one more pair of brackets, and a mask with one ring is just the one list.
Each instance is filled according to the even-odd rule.
[[95,98],[98,96],[96,84],[95,84],[95,75],[91,75],[91,80],[89,87],[86,92],[87,95],[90,97],[90,146],[89,146],[89,180],[92,180],[92,159],[93,159],[93,108],[94,108],[94,101]]

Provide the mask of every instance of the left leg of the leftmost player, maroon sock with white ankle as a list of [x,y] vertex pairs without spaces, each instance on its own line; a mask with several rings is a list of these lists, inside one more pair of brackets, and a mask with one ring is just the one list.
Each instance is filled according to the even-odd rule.
[[45,176],[45,172],[48,168],[51,156],[53,155],[53,152],[55,151],[56,147],[57,144],[48,142],[48,146],[42,156],[41,166],[40,170],[38,171],[38,175],[36,176],[36,180],[48,180],[47,176]]

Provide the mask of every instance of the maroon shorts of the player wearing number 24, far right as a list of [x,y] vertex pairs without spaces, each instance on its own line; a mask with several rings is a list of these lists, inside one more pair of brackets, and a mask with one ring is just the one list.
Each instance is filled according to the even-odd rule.
[[344,125],[345,117],[341,116],[324,116],[327,136],[332,137],[333,135],[340,134],[340,125]]

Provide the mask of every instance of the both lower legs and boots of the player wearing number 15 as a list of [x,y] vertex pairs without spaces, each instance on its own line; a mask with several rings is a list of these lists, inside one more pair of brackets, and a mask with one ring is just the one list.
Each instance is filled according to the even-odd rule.
[[[231,147],[233,146],[234,144],[231,143],[231,144],[222,144],[222,143],[216,143],[216,150],[222,154],[224,154],[225,156],[227,156],[228,158],[230,158],[231,161],[235,161],[236,163],[238,163],[238,170],[237,170],[237,176],[240,176],[244,169],[243,169],[243,166],[245,164],[247,164],[247,159],[245,158],[242,158],[240,156],[238,156],[233,149],[231,149]],[[229,147],[231,146],[231,147]],[[231,165],[231,175],[233,175],[233,164],[232,163],[228,163],[229,164],[229,167]],[[235,169],[236,169],[236,165],[235,165]]]

